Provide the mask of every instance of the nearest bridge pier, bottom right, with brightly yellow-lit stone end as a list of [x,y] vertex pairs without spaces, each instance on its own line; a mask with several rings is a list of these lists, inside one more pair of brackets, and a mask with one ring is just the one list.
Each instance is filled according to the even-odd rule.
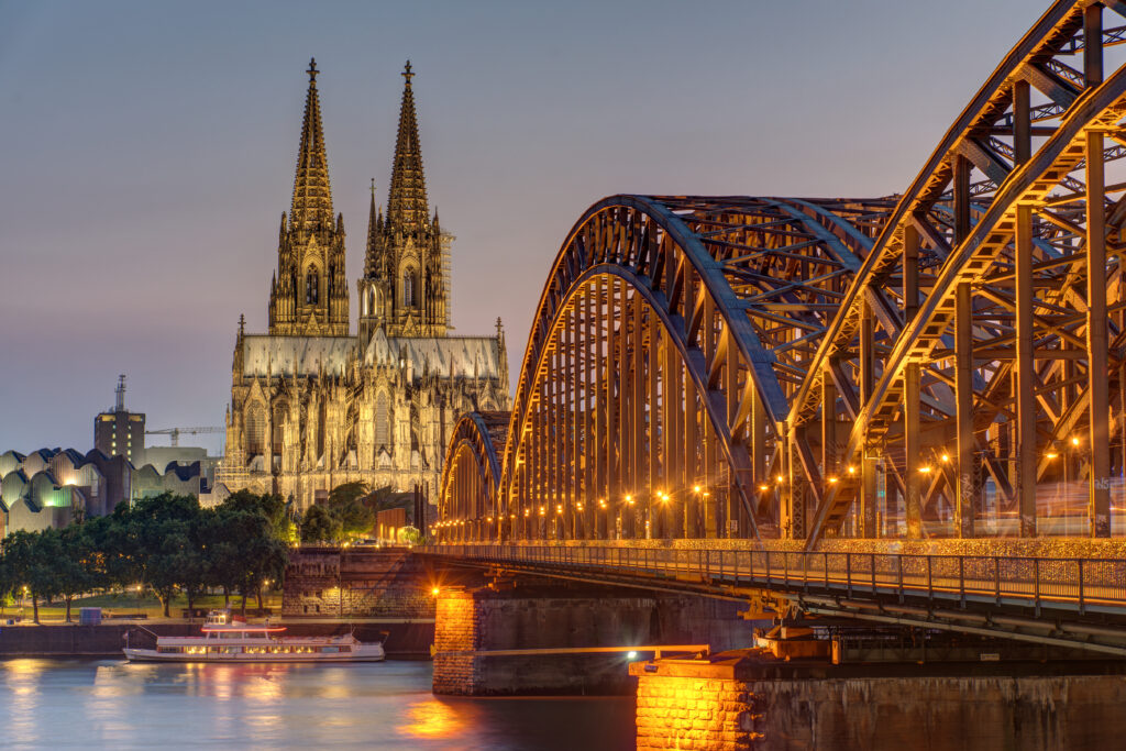
[[1121,671],[1096,661],[833,665],[758,650],[629,665],[637,751],[1106,748],[1126,733]]

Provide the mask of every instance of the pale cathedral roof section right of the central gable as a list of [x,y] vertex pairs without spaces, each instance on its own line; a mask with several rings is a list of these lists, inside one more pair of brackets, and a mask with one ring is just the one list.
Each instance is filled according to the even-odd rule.
[[499,378],[500,349],[494,337],[387,337],[381,329],[364,352],[365,365],[410,363],[423,372],[449,377]]

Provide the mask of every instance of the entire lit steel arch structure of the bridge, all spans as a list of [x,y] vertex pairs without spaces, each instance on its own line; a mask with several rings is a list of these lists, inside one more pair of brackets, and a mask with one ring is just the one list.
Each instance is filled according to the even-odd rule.
[[902,195],[591,206],[439,539],[1108,536],[1123,42],[1126,2],[1054,3]]

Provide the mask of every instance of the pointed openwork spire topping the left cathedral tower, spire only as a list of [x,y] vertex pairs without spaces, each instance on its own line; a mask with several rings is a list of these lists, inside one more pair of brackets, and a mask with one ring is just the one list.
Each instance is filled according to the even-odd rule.
[[297,151],[297,173],[293,181],[293,209],[289,225],[295,230],[332,229],[332,190],[329,187],[329,164],[324,157],[324,133],[321,128],[321,100],[316,95],[316,60],[309,61],[309,93],[305,119],[301,126]]

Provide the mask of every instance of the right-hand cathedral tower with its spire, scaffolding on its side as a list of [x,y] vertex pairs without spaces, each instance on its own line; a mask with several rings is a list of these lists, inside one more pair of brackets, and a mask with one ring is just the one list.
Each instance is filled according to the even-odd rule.
[[449,327],[449,243],[438,213],[429,215],[419,147],[411,63],[399,110],[399,134],[391,171],[387,216],[375,207],[368,217],[367,253],[359,280],[360,343],[379,328],[388,337],[445,337]]

